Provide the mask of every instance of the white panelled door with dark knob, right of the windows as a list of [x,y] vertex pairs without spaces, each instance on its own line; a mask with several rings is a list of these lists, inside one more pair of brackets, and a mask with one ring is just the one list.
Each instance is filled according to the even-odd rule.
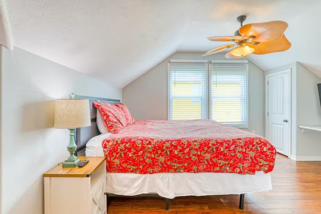
[[291,70],[267,75],[266,137],[277,152],[290,155]]

